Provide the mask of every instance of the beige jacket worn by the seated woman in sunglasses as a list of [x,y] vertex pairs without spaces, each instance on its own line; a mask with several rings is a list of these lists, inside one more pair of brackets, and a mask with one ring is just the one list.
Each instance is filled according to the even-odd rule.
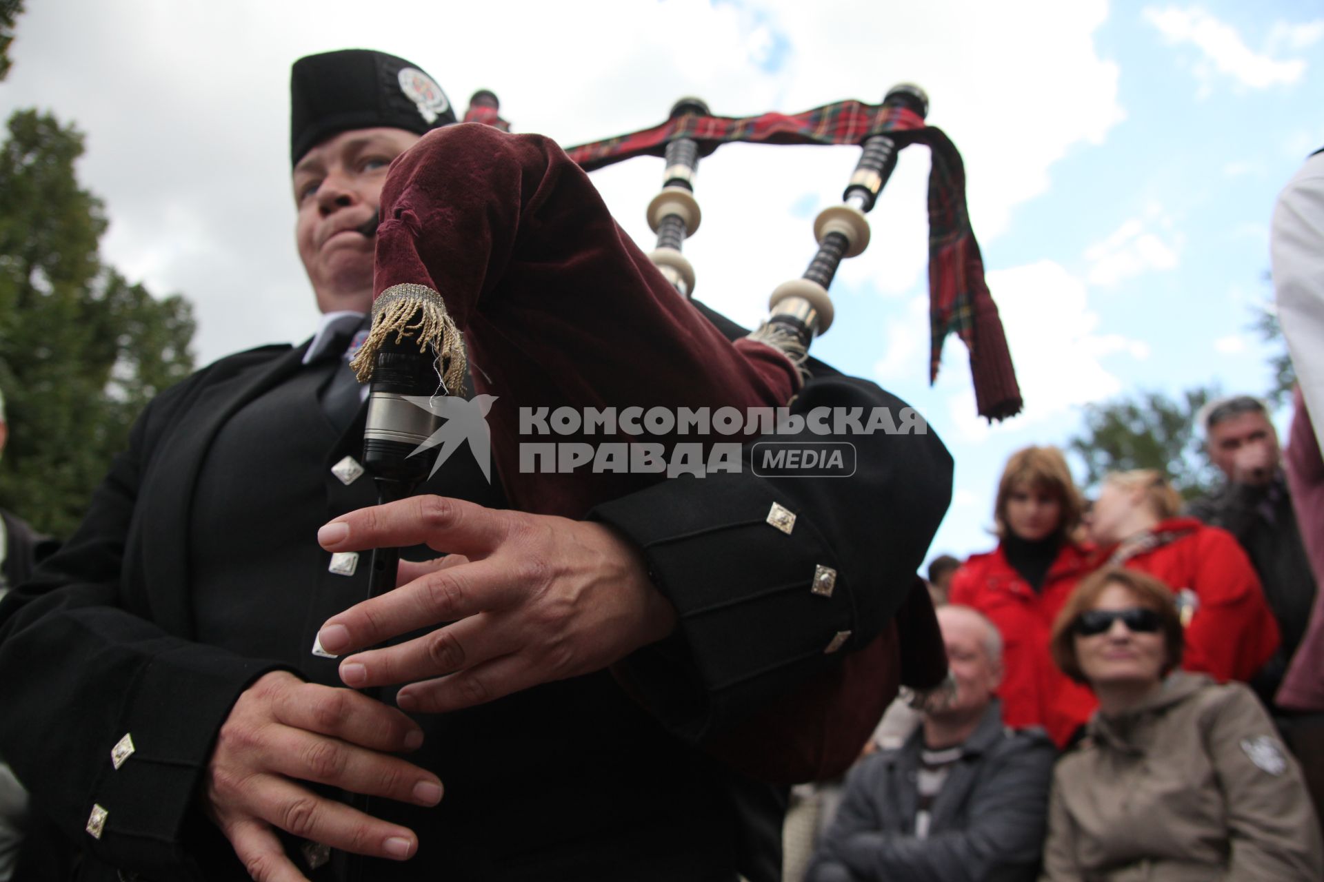
[[1242,684],[1177,672],[1088,731],[1053,775],[1041,882],[1324,879],[1300,768]]

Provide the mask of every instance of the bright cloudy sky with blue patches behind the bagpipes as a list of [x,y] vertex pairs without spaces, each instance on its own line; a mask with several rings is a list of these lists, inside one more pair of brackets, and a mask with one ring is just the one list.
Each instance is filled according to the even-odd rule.
[[[301,56],[402,56],[459,108],[490,89],[514,131],[565,145],[657,124],[682,95],[743,116],[876,103],[919,83],[928,122],[965,160],[1025,411],[996,426],[976,415],[956,339],[928,383],[923,147],[903,151],[813,352],[914,405],[951,450],[953,501],[929,557],[990,547],[1006,458],[1064,444],[1087,405],[1268,387],[1272,346],[1251,329],[1272,298],[1268,222],[1324,145],[1317,1],[26,5],[0,112],[40,107],[86,134],[78,175],[106,204],[103,257],[156,295],[192,300],[199,364],[303,340],[316,324],[289,182],[289,66]],[[695,296],[756,324],[768,294],[813,258],[812,220],[839,201],[857,157],[733,144],[704,159],[703,223],[685,245]],[[593,175],[645,250],[661,173],[643,157]]]

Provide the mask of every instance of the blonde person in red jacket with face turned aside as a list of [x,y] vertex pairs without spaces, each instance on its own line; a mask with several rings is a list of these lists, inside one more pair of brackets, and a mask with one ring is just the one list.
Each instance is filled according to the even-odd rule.
[[1177,517],[1181,497],[1162,473],[1113,472],[1090,512],[1100,562],[1157,577],[1177,595],[1181,666],[1249,681],[1278,648],[1278,623],[1255,567],[1231,533]]

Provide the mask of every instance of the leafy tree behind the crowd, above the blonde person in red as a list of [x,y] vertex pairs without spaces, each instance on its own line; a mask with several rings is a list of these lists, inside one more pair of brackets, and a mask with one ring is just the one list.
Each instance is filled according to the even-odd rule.
[[1067,442],[1084,461],[1086,488],[1096,488],[1108,472],[1157,468],[1182,499],[1207,492],[1215,477],[1196,432],[1196,414],[1213,395],[1210,389],[1189,389],[1178,398],[1140,391],[1087,405],[1084,431]]

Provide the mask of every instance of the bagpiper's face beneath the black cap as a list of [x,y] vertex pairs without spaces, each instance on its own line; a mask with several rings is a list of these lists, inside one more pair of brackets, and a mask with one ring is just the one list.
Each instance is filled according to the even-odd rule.
[[295,239],[322,312],[371,308],[376,243],[359,227],[377,212],[391,160],[417,140],[402,128],[356,128],[322,141],[294,167]]

